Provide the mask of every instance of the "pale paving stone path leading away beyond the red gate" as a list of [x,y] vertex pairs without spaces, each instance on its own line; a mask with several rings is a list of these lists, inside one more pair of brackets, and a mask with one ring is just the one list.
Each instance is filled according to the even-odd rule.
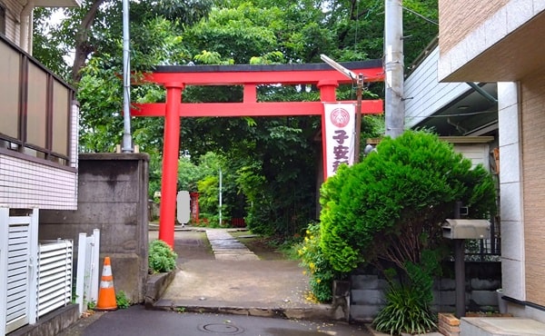
[[206,230],[206,237],[212,245],[217,260],[248,261],[259,257],[248,250],[246,245],[237,241],[229,232],[222,229]]

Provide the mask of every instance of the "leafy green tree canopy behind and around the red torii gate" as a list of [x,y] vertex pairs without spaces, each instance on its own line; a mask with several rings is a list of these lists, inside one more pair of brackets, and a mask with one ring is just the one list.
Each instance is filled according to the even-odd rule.
[[[405,59],[410,62],[437,34],[437,0],[406,0]],[[77,89],[80,102],[80,148],[111,152],[123,134],[122,4],[85,0],[81,8],[64,10],[55,25],[50,9],[35,10],[35,57]],[[418,13],[419,15],[414,15]],[[131,2],[131,66],[149,71],[156,64],[282,64],[321,62],[320,54],[337,61],[381,58],[381,0],[192,0]],[[65,59],[69,59],[69,64]],[[318,101],[316,88],[263,86],[260,101]],[[366,92],[381,96],[382,85]],[[164,101],[163,88],[134,86],[133,102]],[[340,99],[355,99],[351,85]],[[237,102],[239,87],[187,87],[186,102]],[[362,138],[381,133],[375,117],[364,118]],[[382,126],[383,127],[383,126]],[[134,143],[150,153],[151,188],[160,179],[162,118],[133,118]],[[243,212],[263,232],[301,232],[315,218],[316,176],[321,145],[318,117],[184,118],[181,153],[193,164],[208,152],[225,159],[233,174],[226,203],[245,202]],[[154,190],[150,190],[153,194]],[[230,200],[231,198],[231,200]],[[243,202],[243,203],[244,203]],[[237,210],[237,212],[239,212]]]

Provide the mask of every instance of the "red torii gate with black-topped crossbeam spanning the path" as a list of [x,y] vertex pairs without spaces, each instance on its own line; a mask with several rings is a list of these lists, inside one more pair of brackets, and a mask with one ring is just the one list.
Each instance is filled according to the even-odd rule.
[[[342,66],[363,74],[365,82],[384,80],[381,60],[342,63]],[[164,117],[159,239],[171,247],[174,246],[180,117],[322,115],[323,137],[323,103],[336,102],[337,86],[352,83],[327,64],[162,65],[156,66],[153,73],[146,74],[144,81],[166,88],[166,103],[134,104],[131,114]],[[320,89],[321,102],[258,103],[256,87],[263,84],[315,84]],[[243,102],[182,103],[182,91],[186,85],[243,85]],[[362,114],[382,112],[381,100],[362,101]]]

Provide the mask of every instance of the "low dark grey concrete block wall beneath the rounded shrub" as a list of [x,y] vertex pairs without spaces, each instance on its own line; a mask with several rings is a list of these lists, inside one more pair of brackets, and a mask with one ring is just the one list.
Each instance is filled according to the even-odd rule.
[[[453,262],[446,264],[449,277],[435,281],[433,311],[456,310],[456,287]],[[447,274],[446,274],[447,275]],[[385,305],[385,292],[389,284],[376,270],[370,268],[355,272],[351,277],[352,292],[350,316],[352,321],[372,321]],[[498,311],[498,295],[501,287],[500,262],[466,262],[467,311]]]

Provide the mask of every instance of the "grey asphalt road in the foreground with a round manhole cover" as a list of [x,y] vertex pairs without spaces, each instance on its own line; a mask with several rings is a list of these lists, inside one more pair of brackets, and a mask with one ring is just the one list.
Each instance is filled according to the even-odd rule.
[[84,326],[83,331],[80,332],[68,331],[63,335],[372,335],[363,325],[349,325],[342,322],[292,321],[241,315],[185,313],[182,311],[146,311],[141,305],[135,305],[124,310],[100,313],[98,319],[94,319],[91,324]]

